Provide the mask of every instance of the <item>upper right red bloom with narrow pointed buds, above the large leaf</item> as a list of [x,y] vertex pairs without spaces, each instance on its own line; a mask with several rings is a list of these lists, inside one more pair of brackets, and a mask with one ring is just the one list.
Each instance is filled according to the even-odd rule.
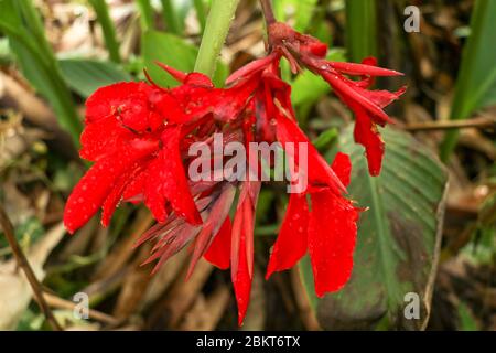
[[[327,45],[313,36],[295,32],[284,23],[274,22],[269,25],[269,39],[272,51],[285,56],[293,72],[304,66],[322,76],[355,113],[355,141],[365,147],[370,174],[378,175],[384,156],[384,141],[377,125],[384,127],[392,122],[382,108],[398,99],[406,88],[402,87],[395,93],[367,88],[374,84],[375,77],[402,74],[377,67],[377,61],[373,57],[365,58],[362,64],[327,61],[325,58]],[[352,81],[345,75],[358,76],[360,79]]]

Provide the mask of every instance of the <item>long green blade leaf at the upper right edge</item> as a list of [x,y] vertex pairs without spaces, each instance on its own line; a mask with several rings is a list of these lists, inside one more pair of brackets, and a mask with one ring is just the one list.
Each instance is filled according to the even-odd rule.
[[[477,109],[496,104],[496,1],[477,0],[471,20],[471,35],[463,52],[451,119],[466,119]],[[441,147],[448,160],[456,146],[459,131],[452,130]]]

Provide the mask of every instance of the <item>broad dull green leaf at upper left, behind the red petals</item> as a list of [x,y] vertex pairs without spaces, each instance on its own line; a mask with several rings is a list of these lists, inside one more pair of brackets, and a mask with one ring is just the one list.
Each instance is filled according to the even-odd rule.
[[67,85],[83,97],[89,97],[96,89],[116,82],[132,81],[119,65],[84,58],[58,61]]

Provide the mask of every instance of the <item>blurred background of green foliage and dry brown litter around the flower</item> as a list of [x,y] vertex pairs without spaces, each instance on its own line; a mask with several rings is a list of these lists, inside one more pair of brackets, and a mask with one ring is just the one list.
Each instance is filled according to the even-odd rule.
[[[216,1],[216,0],[214,0]],[[208,0],[0,0],[0,203],[20,250],[66,330],[238,329],[228,271],[206,261],[184,280],[187,249],[154,276],[140,266],[152,224],[123,204],[111,226],[97,217],[74,236],[64,203],[88,164],[78,158],[84,101],[98,87],[175,83],[153,64],[192,71]],[[265,281],[284,214],[267,184],[256,226],[256,269],[246,330],[496,329],[496,1],[273,0],[276,17],[330,45],[330,58],[405,73],[388,113],[384,172],[366,173],[351,111],[310,73],[282,75],[300,125],[330,160],[352,154],[360,218],[355,268],[338,293],[315,298],[309,260]],[[257,1],[241,0],[214,81],[265,55]],[[86,308],[90,310],[87,311]],[[84,319],[85,314],[88,319]],[[83,318],[82,318],[83,317]],[[52,330],[0,234],[0,329]]]

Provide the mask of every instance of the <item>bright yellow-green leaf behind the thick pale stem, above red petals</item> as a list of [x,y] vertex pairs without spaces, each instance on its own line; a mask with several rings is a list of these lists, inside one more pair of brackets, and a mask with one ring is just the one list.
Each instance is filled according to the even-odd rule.
[[[198,50],[176,35],[149,31],[143,34],[141,53],[144,57],[144,66],[153,81],[160,86],[173,87],[177,85],[177,82],[157,66],[155,62],[168,64],[183,72],[192,72]],[[217,64],[213,79],[216,86],[224,84],[227,74],[227,66],[222,63]]]

